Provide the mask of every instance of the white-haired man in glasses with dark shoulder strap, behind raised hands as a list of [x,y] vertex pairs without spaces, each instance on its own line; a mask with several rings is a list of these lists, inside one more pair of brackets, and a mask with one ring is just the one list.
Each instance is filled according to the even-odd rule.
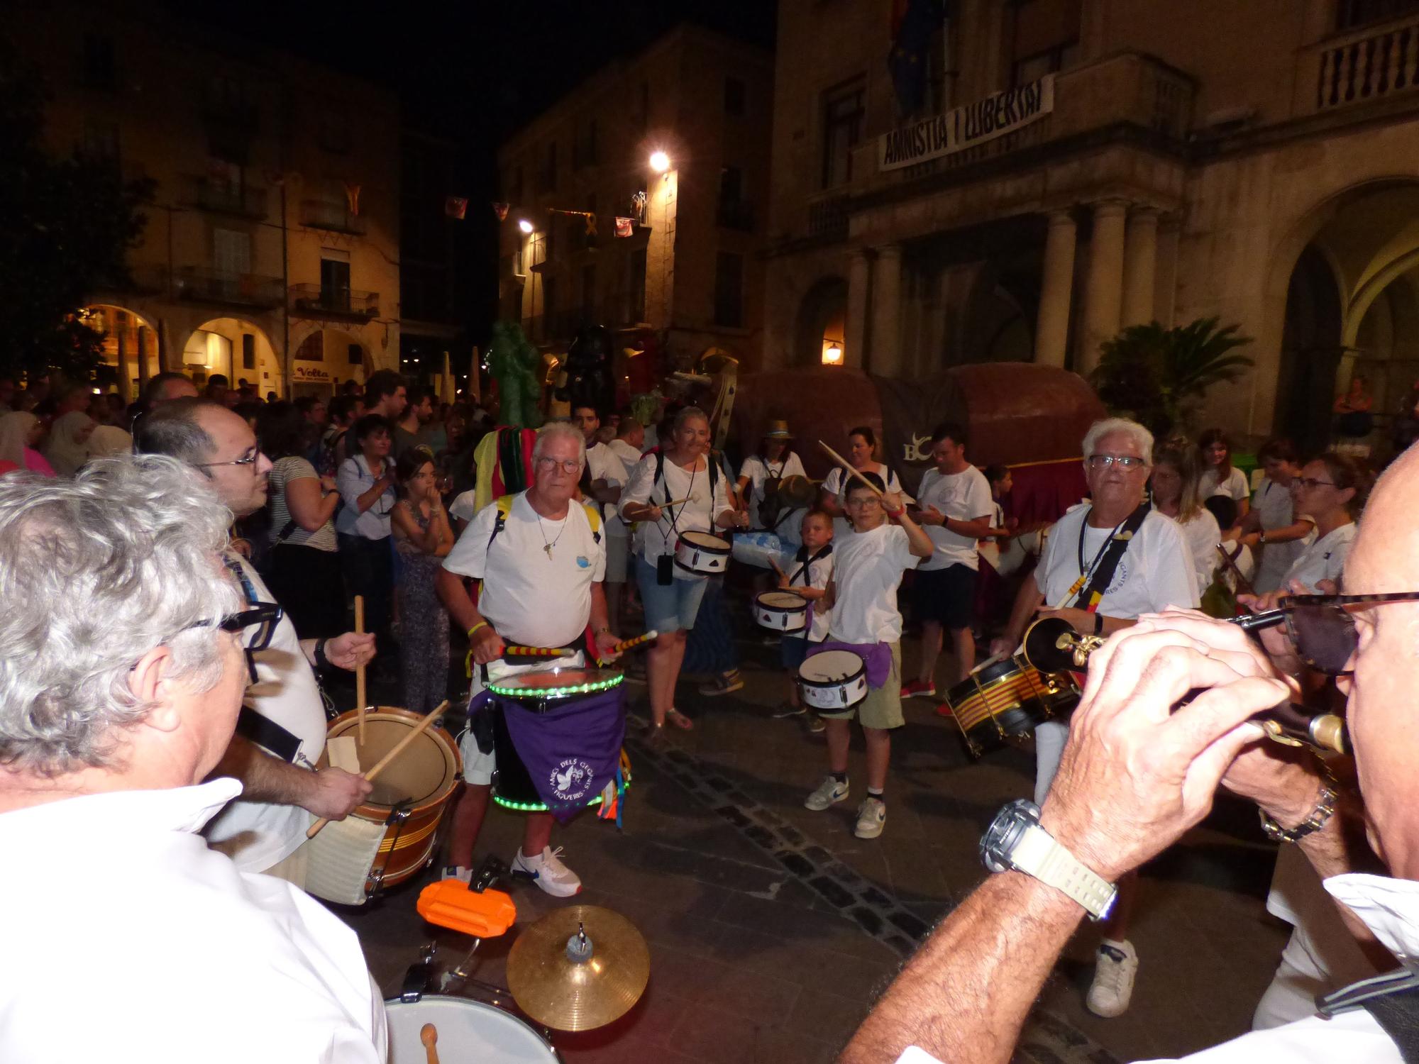
[[[1044,555],[1026,579],[1006,634],[990,653],[1013,653],[1036,616],[1057,616],[1078,631],[1108,634],[1142,613],[1196,606],[1198,586],[1182,529],[1148,504],[1152,433],[1137,421],[1110,417],[1084,434],[1084,478],[1090,498],[1056,522]],[[1044,803],[1060,765],[1069,724],[1046,721],[1034,729],[1034,804]],[[1086,1003],[1098,1016],[1128,1009],[1138,953],[1128,941],[1128,918],[1138,878],[1118,885],[1104,925]]]

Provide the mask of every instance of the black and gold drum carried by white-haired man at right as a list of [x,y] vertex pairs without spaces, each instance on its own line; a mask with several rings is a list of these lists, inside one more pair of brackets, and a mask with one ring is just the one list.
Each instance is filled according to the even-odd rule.
[[1078,704],[1069,672],[1040,672],[1023,655],[986,663],[946,689],[946,708],[961,728],[966,752],[979,758]]

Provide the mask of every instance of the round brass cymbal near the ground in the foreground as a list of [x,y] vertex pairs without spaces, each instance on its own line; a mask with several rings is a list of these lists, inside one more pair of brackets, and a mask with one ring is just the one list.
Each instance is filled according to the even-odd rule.
[[648,979],[646,939],[619,912],[596,905],[549,912],[519,932],[508,953],[512,1000],[559,1031],[586,1031],[620,1019],[640,1000]]

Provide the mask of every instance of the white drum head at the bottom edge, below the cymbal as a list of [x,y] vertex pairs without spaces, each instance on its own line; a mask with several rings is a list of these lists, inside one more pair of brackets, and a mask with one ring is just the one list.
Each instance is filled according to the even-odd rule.
[[529,1024],[512,1013],[468,997],[424,994],[417,1002],[392,999],[385,1002],[385,1016],[389,1019],[389,1064],[426,1064],[430,1060],[419,1036],[426,1023],[438,1031],[438,1058],[448,1064],[484,1060],[558,1064],[562,1060]]

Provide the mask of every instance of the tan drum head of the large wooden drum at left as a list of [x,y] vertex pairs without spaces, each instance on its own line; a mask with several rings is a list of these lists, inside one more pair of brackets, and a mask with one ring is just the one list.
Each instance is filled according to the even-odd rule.
[[[419,724],[420,716],[407,709],[380,706],[365,715],[365,742],[359,745],[362,769],[394,749]],[[328,738],[349,735],[359,741],[359,722],[352,709],[331,722]],[[383,820],[390,807],[413,802],[414,807],[438,802],[458,782],[458,752],[453,739],[440,728],[430,728],[414,739],[375,780],[375,789],[360,803],[363,816]]]

